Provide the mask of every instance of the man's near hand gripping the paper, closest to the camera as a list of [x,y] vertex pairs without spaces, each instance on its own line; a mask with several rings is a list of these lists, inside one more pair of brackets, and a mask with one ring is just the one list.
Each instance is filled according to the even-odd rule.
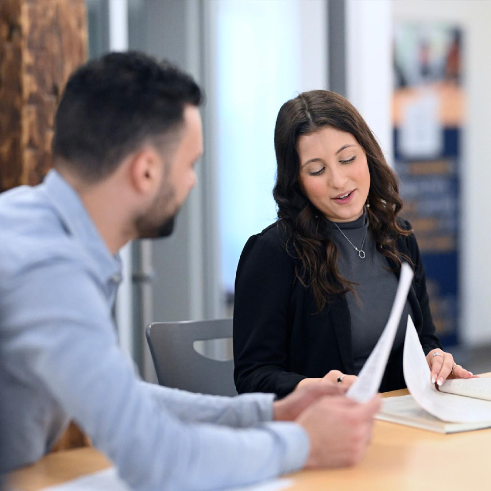
[[305,467],[340,467],[360,462],[372,438],[373,418],[379,409],[378,396],[366,404],[331,396],[310,405],[296,420],[310,437]]

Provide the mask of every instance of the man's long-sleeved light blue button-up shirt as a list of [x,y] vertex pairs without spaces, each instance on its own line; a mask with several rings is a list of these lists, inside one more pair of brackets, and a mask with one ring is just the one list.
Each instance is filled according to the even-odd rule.
[[136,490],[207,490],[301,468],[308,437],[272,422],[273,395],[142,382],[117,344],[121,278],[55,170],[0,195],[0,381],[6,468],[36,461],[75,420]]

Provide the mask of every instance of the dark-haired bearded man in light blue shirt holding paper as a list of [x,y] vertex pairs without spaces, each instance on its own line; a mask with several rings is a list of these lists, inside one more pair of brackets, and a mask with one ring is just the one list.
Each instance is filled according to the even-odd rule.
[[141,382],[117,346],[117,251],[171,233],[203,151],[200,102],[190,77],[145,55],[91,61],[56,113],[55,170],[0,196],[7,468],[49,452],[70,419],[137,490],[240,485],[365,453],[378,400],[321,383],[275,402],[191,394]]

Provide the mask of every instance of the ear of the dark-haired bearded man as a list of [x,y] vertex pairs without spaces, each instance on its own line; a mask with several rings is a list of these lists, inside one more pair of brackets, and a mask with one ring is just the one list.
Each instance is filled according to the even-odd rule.
[[131,157],[128,165],[131,184],[140,194],[153,194],[160,187],[164,162],[151,147],[145,147]]

